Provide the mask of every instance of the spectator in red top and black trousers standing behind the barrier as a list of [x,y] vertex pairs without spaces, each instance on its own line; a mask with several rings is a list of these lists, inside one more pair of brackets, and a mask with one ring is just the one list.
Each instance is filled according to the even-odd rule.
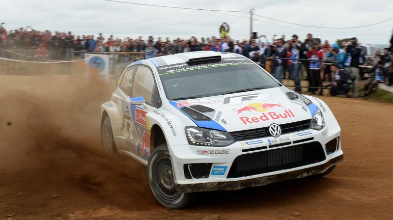
[[[313,43],[309,48],[309,52],[307,53],[307,57],[310,60],[321,60],[323,54],[319,51],[318,44]],[[321,83],[321,63],[319,61],[310,61],[310,86],[312,87],[320,87]],[[310,88],[309,91],[311,94],[315,94],[316,88]],[[322,90],[319,92],[319,95],[322,95]]]

